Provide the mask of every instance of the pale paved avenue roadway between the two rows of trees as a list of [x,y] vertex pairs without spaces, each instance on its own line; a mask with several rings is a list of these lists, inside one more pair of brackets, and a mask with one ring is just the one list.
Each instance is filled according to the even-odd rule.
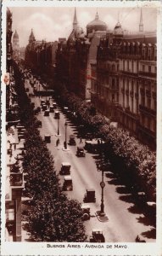
[[[30,88],[29,81],[25,83],[25,87]],[[46,97],[42,97],[46,98]],[[35,102],[36,107],[40,106],[41,98],[32,97],[31,102]],[[51,104],[53,100],[50,100]],[[60,109],[59,109],[60,110]],[[58,120],[53,118],[53,113],[49,116],[44,116],[44,112],[39,113],[36,117],[42,121],[42,128],[40,133],[42,137],[45,134],[51,135],[51,143],[47,143],[47,147],[51,151],[54,157],[54,166],[59,173],[61,163],[68,161],[71,164],[71,177],[73,180],[73,191],[66,192],[69,198],[76,199],[83,202],[83,197],[86,192],[86,188],[92,188],[96,191],[96,203],[88,203],[91,207],[92,218],[85,221],[88,236],[91,235],[92,229],[103,230],[105,241],[107,242],[131,242],[135,241],[137,235],[146,234],[146,241],[154,241],[152,233],[154,233],[154,227],[150,226],[147,218],[144,217],[140,209],[134,207],[132,197],[126,191],[126,187],[120,182],[120,179],[115,177],[113,172],[105,172],[104,182],[106,186],[104,188],[104,211],[106,212],[109,221],[100,222],[95,215],[95,212],[100,210],[101,203],[101,188],[100,182],[102,173],[98,172],[94,154],[86,154],[86,157],[78,158],[76,153],[76,147],[80,144],[80,139],[76,138],[76,146],[69,146],[69,151],[64,151],[64,136],[65,129],[64,123],[68,122],[67,126],[67,139],[69,141],[70,134],[74,134],[75,125],[70,123],[69,119],[61,113],[59,120],[60,131],[60,145],[56,147],[56,140],[58,137]],[[83,140],[82,145],[85,141]],[[60,176],[60,182],[63,183],[63,176]]]

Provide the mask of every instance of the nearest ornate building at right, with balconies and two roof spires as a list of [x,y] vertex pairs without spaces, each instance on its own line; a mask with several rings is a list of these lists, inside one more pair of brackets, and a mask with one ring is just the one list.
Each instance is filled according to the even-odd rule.
[[[156,34],[124,35],[120,22],[100,39],[92,103],[142,142],[156,144]],[[95,77],[95,78],[94,78]]]

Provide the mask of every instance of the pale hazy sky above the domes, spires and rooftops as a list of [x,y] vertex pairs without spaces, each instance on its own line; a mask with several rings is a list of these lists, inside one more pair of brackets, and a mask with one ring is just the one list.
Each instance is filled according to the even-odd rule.
[[[28,44],[31,28],[36,40],[45,39],[47,42],[68,38],[72,31],[74,7],[10,7],[9,9],[13,14],[13,32],[16,29],[20,37],[20,47]],[[97,11],[99,19],[107,24],[109,30],[114,29],[119,17],[123,29],[129,32],[138,31],[140,8],[77,7],[78,24],[84,32],[87,24],[94,20]],[[144,31],[156,30],[156,12],[155,8],[142,8]]]

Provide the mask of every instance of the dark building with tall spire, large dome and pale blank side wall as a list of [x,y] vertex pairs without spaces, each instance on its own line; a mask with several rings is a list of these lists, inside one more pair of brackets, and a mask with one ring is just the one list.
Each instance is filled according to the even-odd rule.
[[[91,98],[91,64],[97,60],[98,44],[106,31],[107,26],[99,20],[97,13],[95,19],[87,24],[86,35],[78,25],[75,10],[70,37],[65,44],[59,43],[57,50],[58,77],[69,90],[74,91],[85,100]],[[60,73],[64,73],[64,75],[60,76]]]

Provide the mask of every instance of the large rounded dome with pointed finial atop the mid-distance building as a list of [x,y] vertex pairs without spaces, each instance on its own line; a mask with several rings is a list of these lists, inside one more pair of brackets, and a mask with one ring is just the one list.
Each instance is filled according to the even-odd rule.
[[95,19],[87,24],[87,35],[97,31],[107,31],[107,25],[102,20],[99,20],[98,12],[96,13]]

